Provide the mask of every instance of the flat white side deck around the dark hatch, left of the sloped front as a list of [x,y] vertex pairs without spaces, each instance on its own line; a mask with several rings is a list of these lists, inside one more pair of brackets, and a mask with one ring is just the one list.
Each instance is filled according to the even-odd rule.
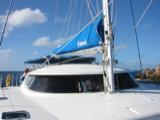
[[37,106],[24,95],[19,87],[0,90],[0,97],[8,98],[7,100],[0,100],[0,118],[3,112],[25,110],[30,113],[31,120],[56,120],[52,114]]

